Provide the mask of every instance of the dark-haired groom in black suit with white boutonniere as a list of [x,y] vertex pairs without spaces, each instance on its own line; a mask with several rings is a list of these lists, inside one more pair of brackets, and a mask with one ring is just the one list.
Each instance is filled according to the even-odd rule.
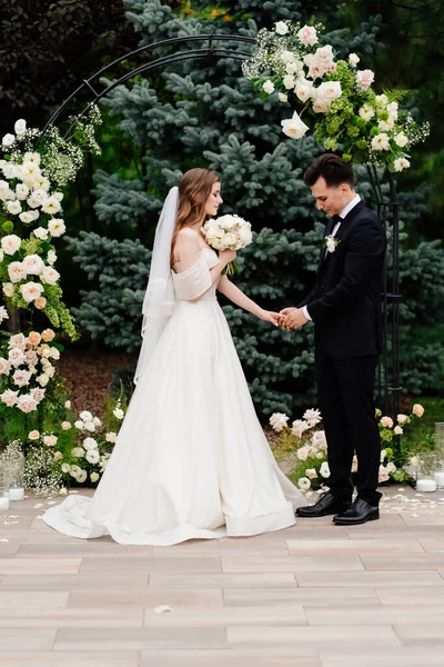
[[[327,440],[329,491],[300,517],[334,515],[349,526],[379,519],[380,432],[373,387],[382,350],[381,292],[386,239],[377,217],[354,189],[352,168],[325,153],[304,173],[319,210],[330,220],[317,282],[297,308],[281,311],[286,330],[314,322],[319,407]],[[357,496],[351,467],[357,456]]]

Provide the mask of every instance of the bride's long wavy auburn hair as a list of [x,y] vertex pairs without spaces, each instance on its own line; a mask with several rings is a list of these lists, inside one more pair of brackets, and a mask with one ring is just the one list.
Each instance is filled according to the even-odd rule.
[[190,169],[179,181],[179,209],[171,241],[171,265],[178,233],[184,227],[192,227],[204,221],[205,202],[211,190],[221,178],[210,169]]

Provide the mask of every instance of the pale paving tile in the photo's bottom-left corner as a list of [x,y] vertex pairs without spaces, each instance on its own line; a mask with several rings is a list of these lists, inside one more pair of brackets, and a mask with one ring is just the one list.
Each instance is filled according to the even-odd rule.
[[[135,650],[4,653],[1,657],[4,667],[140,667],[139,653]],[[158,667],[158,665],[152,661],[150,667]]]

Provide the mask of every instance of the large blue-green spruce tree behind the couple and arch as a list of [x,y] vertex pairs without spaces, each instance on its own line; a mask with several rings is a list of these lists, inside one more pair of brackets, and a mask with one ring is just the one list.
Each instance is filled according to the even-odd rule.
[[[231,0],[212,11],[196,2],[189,17],[175,13],[161,0],[132,0],[129,4],[141,46],[213,28],[254,37],[258,29],[276,20],[305,22],[312,16],[310,3],[290,0]],[[317,4],[319,18],[327,23],[334,8]],[[377,28],[375,18],[353,33],[325,33],[323,41],[340,53],[371,53],[376,48]],[[229,42],[228,48],[245,51],[250,47]],[[262,101],[243,78],[239,61],[231,59],[168,66],[151,78],[115,88],[104,104],[127,137],[143,148],[145,177],[128,182],[119,175],[97,175],[98,217],[110,237],[123,235],[127,240],[85,232],[70,240],[74,259],[92,280],[92,289],[82,293],[75,312],[82,327],[108,346],[138,348],[150,262],[147,247],[151,247],[157,216],[168,189],[186,169],[198,166],[221,175],[223,211],[238,212],[256,232],[254,243],[240,253],[242,272],[236,282],[241,289],[273,310],[296,305],[314,283],[325,219],[302,182],[303,170],[322,149],[312,137],[302,141],[284,138],[280,121],[289,116],[289,106],[279,102],[278,96]],[[359,167],[356,176],[359,191],[369,201],[372,191],[365,168]],[[423,189],[401,195],[406,221],[417,215],[424,198]],[[424,289],[424,285],[418,305],[418,287],[412,276],[422,271],[424,263],[430,267],[432,287],[444,270],[438,248],[423,243],[402,257],[405,332],[418,318],[427,325],[436,322],[438,307],[444,305],[444,295]],[[224,310],[259,411],[266,416],[279,410],[296,417],[303,407],[314,406],[313,327],[285,332],[230,305]],[[430,386],[432,354],[435,360],[442,359],[442,344],[433,341],[422,350],[421,370],[412,375],[410,365],[418,350],[414,345],[406,350],[408,375],[403,375],[403,380],[413,382],[405,382],[407,389]]]

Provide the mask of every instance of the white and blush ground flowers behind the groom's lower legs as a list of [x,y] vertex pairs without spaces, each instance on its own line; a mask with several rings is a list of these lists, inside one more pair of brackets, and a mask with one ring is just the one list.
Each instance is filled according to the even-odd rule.
[[[415,417],[422,417],[424,408],[415,404],[410,415],[397,415],[396,424],[391,417],[383,416],[376,410],[381,436],[381,465],[380,484],[393,480],[405,482],[411,480],[411,475],[404,469],[407,462],[402,454],[402,448],[396,444],[396,438],[404,434],[405,427]],[[327,462],[327,442],[325,432],[319,427],[322,417],[319,410],[306,410],[302,419],[296,419],[289,426],[290,417],[283,412],[274,412],[270,417],[270,425],[278,434],[270,442],[273,454],[287,471],[290,479],[300,489],[319,488],[330,477]],[[317,428],[315,428],[317,427]],[[394,442],[394,447],[387,445]],[[357,471],[357,457],[353,457],[352,476]]]

